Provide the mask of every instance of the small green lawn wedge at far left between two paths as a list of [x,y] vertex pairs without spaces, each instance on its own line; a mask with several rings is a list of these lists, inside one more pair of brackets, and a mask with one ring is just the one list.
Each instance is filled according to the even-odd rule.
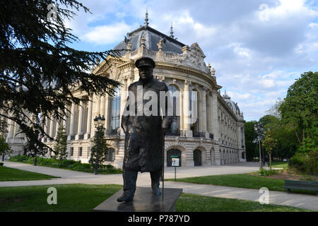
[[52,179],[52,178],[59,178],[59,177],[0,166],[0,182],[31,181],[31,180]]

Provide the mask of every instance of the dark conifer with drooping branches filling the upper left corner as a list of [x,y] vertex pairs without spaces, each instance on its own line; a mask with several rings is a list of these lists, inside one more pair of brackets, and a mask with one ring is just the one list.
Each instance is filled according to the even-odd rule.
[[74,89],[105,95],[119,85],[90,72],[97,59],[118,56],[119,51],[85,52],[68,46],[78,37],[64,21],[80,10],[90,13],[76,0],[0,3],[0,116],[16,121],[29,149],[37,148],[37,153],[49,148],[38,139],[39,134],[51,138],[42,128],[46,117],[61,122],[68,105],[88,101],[75,97]]

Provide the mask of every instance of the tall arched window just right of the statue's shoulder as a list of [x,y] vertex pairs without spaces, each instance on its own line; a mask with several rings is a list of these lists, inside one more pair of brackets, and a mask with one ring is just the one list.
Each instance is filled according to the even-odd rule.
[[168,90],[170,93],[170,97],[172,100],[172,107],[173,107],[173,120],[171,124],[171,135],[178,135],[180,129],[180,114],[179,114],[179,90],[175,85],[168,85]]

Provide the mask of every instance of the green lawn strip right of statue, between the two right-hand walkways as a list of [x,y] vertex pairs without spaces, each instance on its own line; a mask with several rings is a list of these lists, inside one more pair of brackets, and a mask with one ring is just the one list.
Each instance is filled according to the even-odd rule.
[[[175,179],[167,180],[175,181]],[[285,180],[283,179],[255,177],[249,174],[224,174],[206,177],[187,177],[177,179],[177,182],[187,182],[194,184],[213,184],[218,186],[234,186],[237,188],[244,189],[261,189],[262,187],[266,187],[270,191],[287,191],[287,189],[283,189],[285,183]],[[295,193],[316,194],[316,191],[292,191]]]

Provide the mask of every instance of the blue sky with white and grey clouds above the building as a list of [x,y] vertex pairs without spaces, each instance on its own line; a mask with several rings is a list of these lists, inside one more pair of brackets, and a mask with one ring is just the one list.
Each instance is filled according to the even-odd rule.
[[149,26],[197,42],[246,121],[263,117],[305,71],[318,71],[318,0],[82,0],[66,26],[76,49],[105,51]]

